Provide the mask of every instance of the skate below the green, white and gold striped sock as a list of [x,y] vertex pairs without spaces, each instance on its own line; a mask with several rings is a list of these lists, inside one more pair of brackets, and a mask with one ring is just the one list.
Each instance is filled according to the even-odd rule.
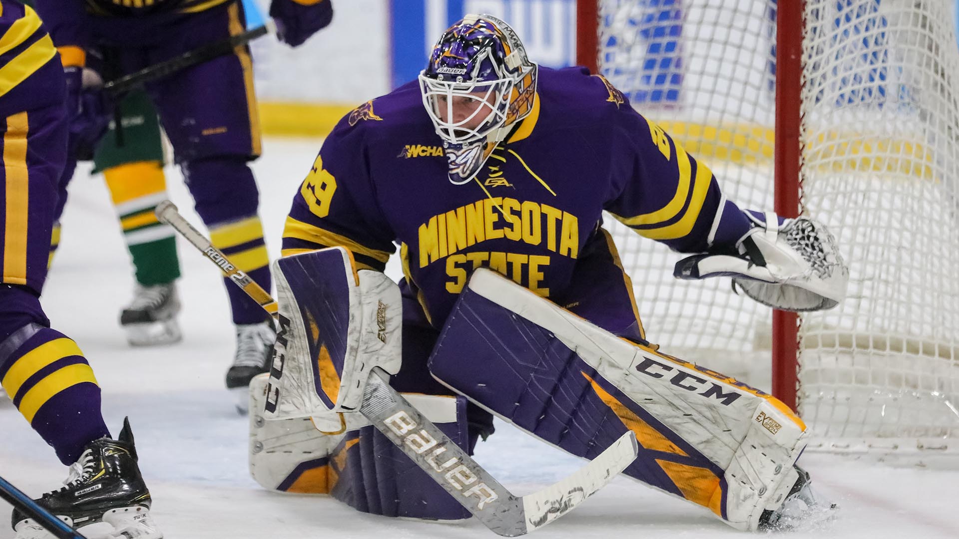
[[174,283],[149,287],[137,284],[133,300],[120,313],[120,325],[134,346],[171,344],[182,339],[176,323],[179,310]]

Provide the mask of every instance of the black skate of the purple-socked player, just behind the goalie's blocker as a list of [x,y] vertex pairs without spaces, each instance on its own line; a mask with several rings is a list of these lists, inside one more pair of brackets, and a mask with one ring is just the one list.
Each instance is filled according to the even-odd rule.
[[246,414],[249,400],[249,381],[269,370],[273,357],[276,330],[273,320],[257,324],[238,324],[237,353],[233,365],[226,371],[226,388],[236,393],[237,411]]

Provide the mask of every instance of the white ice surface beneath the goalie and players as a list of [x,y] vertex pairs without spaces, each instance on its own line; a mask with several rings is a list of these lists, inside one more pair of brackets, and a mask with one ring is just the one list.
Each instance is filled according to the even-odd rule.
[[[270,255],[279,253],[283,220],[319,142],[268,139],[255,164]],[[168,169],[172,199],[200,221],[178,171]],[[437,178],[437,181],[445,181]],[[129,415],[153,514],[168,539],[336,537],[494,537],[475,520],[456,525],[400,521],[357,512],[322,497],[260,488],[246,470],[246,418],[223,388],[233,333],[219,272],[180,242],[184,340],[164,348],[130,348],[117,320],[133,286],[128,254],[101,176],[75,178],[43,305],[59,331],[80,344],[104,388],[114,434]],[[424,194],[427,196],[428,194]],[[399,264],[388,272],[399,274]],[[517,494],[572,473],[581,462],[502,423],[480,443],[477,459]],[[31,495],[66,477],[47,447],[10,406],[0,405],[0,476]],[[812,537],[931,539],[959,537],[959,471],[892,468],[844,457],[803,457],[814,484],[841,505],[824,527],[784,534]],[[0,501],[0,513],[10,506]],[[6,518],[0,515],[0,519]],[[537,537],[743,536],[705,510],[620,478]],[[12,531],[0,522],[0,539]]]

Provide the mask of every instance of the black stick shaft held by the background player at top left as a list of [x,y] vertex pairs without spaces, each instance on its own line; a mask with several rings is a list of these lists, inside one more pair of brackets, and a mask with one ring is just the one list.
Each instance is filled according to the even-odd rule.
[[142,86],[146,82],[152,82],[192,65],[227,55],[236,47],[246,45],[246,43],[249,43],[257,37],[275,33],[276,24],[273,23],[272,20],[268,20],[263,26],[247,30],[242,34],[231,35],[220,41],[207,43],[192,51],[187,51],[178,57],[148,65],[139,71],[106,82],[104,84],[104,91],[107,95],[116,97],[133,88]]

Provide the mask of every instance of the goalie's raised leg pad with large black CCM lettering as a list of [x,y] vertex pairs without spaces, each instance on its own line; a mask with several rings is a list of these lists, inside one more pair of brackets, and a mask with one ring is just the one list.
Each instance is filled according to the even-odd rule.
[[579,457],[625,431],[625,474],[757,529],[800,473],[805,425],[778,400],[708,368],[622,340],[479,269],[431,358],[440,381]]

